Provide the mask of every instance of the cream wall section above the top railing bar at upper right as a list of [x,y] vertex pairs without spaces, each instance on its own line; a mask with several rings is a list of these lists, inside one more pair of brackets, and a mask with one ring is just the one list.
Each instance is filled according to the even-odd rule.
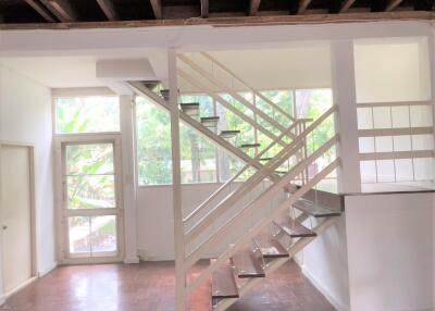
[[355,41],[357,102],[431,99],[427,38]]

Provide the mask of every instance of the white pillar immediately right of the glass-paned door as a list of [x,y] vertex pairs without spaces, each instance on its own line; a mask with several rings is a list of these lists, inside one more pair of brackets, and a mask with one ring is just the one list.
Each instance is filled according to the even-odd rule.
[[133,96],[120,96],[122,165],[123,165],[123,201],[125,263],[139,263],[137,257],[137,204],[135,182],[135,144]]

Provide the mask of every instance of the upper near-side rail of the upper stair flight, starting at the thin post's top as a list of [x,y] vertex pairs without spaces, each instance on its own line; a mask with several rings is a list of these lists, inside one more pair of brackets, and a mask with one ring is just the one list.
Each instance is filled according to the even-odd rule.
[[[261,119],[263,119],[265,122],[271,124],[273,127],[277,128],[279,132],[284,132],[285,127],[273,120],[271,116],[269,116],[266,113],[264,113],[262,110],[258,109],[254,104],[250,103],[248,100],[246,100],[244,97],[241,97],[238,92],[233,91],[229,89],[225,84],[216,80],[212,75],[210,75],[207,71],[204,71],[200,65],[196,64],[194,61],[191,61],[189,58],[186,55],[179,54],[178,60],[181,60],[183,63],[188,65],[190,69],[192,69],[195,72],[199,73],[203,78],[206,78],[209,83],[211,83],[214,86],[217,86],[220,89],[224,90],[225,92],[229,94],[233,98],[235,98],[238,102],[240,102],[246,108],[250,109],[253,113],[259,115]],[[219,95],[221,98],[222,95]],[[291,137],[291,136],[290,136]],[[291,137],[294,138],[294,137]]]

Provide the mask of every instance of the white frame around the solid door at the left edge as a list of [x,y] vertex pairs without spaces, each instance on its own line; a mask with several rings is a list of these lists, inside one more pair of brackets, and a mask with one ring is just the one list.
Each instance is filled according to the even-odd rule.
[[[37,257],[37,247],[36,247],[36,199],[35,199],[35,145],[30,142],[17,142],[17,141],[8,141],[8,140],[0,140],[0,158],[1,158],[1,148],[2,147],[23,147],[27,149],[28,152],[28,178],[29,178],[29,209],[30,209],[30,278],[25,281],[23,284],[18,285],[16,288],[13,288],[12,290],[8,293],[0,293],[3,294],[3,296],[7,298],[23,287],[27,286],[29,283],[34,282],[38,277],[38,257]],[[1,174],[1,165],[0,165],[0,174]],[[1,206],[3,204],[3,199],[1,196],[1,190],[0,190],[0,209]],[[3,231],[0,231],[0,248],[3,247]],[[1,275],[0,282],[1,282],[1,289],[4,291],[4,281],[3,281],[3,275],[4,275],[4,265],[3,265],[3,259],[0,257],[0,269],[1,269]]]

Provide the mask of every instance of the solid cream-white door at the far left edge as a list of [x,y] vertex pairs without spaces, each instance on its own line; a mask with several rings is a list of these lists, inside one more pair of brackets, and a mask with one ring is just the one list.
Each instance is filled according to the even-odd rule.
[[32,278],[30,149],[0,145],[0,225],[4,293]]

